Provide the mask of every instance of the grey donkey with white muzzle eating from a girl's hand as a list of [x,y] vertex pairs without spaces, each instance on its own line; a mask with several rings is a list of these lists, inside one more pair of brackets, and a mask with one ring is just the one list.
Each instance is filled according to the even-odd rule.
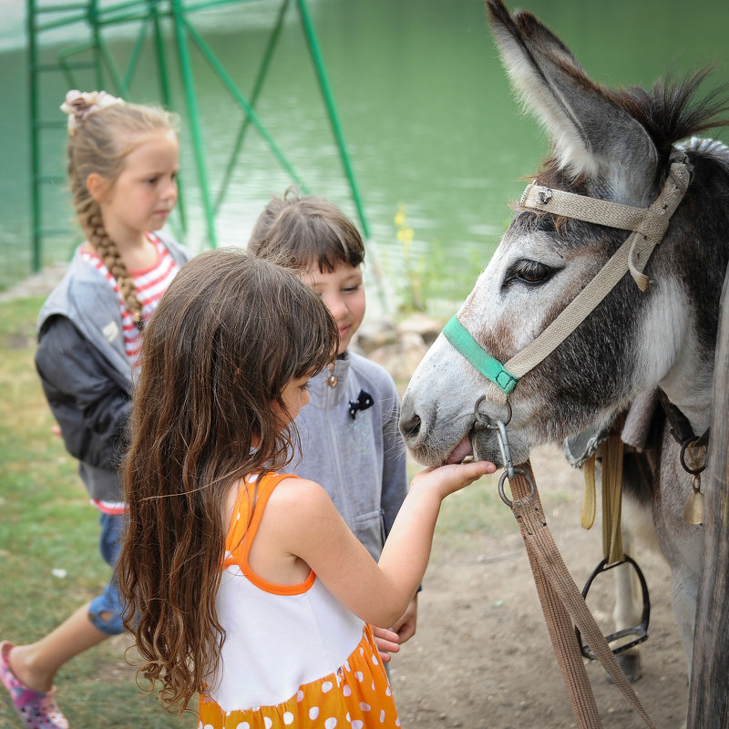
[[[551,152],[455,321],[406,389],[406,446],[428,466],[468,456],[503,465],[497,431],[483,426],[500,420],[519,464],[531,447],[610,428],[655,388],[693,434],[703,434],[729,262],[729,149],[694,135],[727,123],[720,118],[729,109],[726,89],[698,98],[710,69],[668,77],[651,90],[603,87],[534,15],[511,15],[500,0],[487,5],[508,75],[546,128]],[[564,207],[550,211],[560,198]],[[573,210],[581,203],[599,211],[580,217]],[[624,222],[624,215],[644,213],[651,221],[663,216],[667,230]],[[626,244],[626,272],[604,298],[559,344],[552,337],[540,359],[509,372],[508,361],[523,364],[520,353],[562,321],[560,313]],[[458,344],[464,337],[495,372],[477,370]],[[672,570],[673,611],[690,667],[703,535],[683,519],[693,491],[671,430],[662,426],[654,488],[638,503],[650,510]]]

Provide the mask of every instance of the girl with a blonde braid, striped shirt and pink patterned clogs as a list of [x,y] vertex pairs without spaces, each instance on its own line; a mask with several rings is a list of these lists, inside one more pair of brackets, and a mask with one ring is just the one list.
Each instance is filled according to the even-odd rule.
[[[36,368],[68,452],[100,512],[100,549],[114,567],[126,506],[118,467],[144,324],[189,258],[158,231],[177,201],[179,144],[161,108],[69,91],[68,179],[86,236],[38,317]],[[115,577],[39,641],[0,643],[0,680],[29,729],[67,729],[57,670],[124,631]]]

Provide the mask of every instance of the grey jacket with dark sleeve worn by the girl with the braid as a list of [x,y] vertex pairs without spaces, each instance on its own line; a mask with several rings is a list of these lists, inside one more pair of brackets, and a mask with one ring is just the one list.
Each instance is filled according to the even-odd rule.
[[[190,253],[159,235],[182,265]],[[38,314],[36,369],[67,451],[91,498],[121,501],[132,369],[114,290],[80,249]]]

